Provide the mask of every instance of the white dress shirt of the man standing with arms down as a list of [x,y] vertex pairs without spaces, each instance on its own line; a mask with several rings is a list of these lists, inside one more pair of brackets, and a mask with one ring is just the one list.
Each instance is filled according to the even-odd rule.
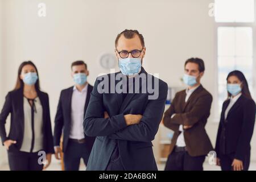
[[82,92],[77,90],[76,86],[73,88],[72,101],[71,101],[71,130],[69,138],[71,139],[83,139],[84,127],[84,107],[87,96],[88,84],[82,89]]

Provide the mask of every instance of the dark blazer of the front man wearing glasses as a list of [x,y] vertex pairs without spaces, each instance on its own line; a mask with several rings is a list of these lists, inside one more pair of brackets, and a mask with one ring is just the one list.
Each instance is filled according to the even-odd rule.
[[[141,73],[149,75],[143,68]],[[107,77],[110,79],[117,74],[120,72],[111,73]],[[84,120],[85,134],[96,137],[86,170],[105,170],[115,142],[125,170],[158,170],[151,141],[163,117],[168,86],[166,82],[152,76],[154,79],[159,82],[156,85],[159,97],[148,100],[150,93],[141,92],[142,84],[150,80],[148,77],[142,79],[139,93],[129,93],[125,98],[117,92],[99,93],[97,88],[102,81],[97,78]],[[118,82],[115,81],[114,86]],[[152,84],[154,88],[154,81]],[[108,112],[109,118],[104,118],[104,111]],[[125,114],[141,114],[143,117],[139,124],[127,126]]]

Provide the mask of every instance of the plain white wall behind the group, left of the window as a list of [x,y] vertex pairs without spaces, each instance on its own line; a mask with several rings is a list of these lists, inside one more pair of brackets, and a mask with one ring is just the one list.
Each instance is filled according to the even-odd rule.
[[[72,85],[72,61],[82,59],[88,63],[88,79],[93,84],[99,73],[108,72],[100,67],[98,56],[114,52],[115,36],[125,28],[138,29],[144,35],[147,48],[144,67],[148,72],[159,73],[169,86],[180,86],[184,61],[198,56],[206,66],[203,85],[213,96],[216,94],[214,19],[208,16],[208,5],[213,0],[2,2],[5,21],[1,71],[5,80],[1,83],[1,100],[14,88],[19,64],[32,60],[39,69],[42,89],[49,94],[53,121],[60,90]],[[47,6],[45,18],[37,15],[40,2]],[[217,101],[216,97],[214,100]],[[215,106],[216,102],[212,108]],[[213,121],[214,113],[212,109],[209,122]],[[216,127],[216,124],[208,126],[213,142]]]

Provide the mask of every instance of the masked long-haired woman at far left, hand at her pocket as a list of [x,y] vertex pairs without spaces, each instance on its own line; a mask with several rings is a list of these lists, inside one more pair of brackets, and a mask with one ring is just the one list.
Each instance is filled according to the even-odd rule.
[[[5,123],[10,113],[7,136]],[[12,171],[42,170],[51,163],[54,150],[49,98],[40,91],[38,69],[31,61],[20,65],[15,89],[6,96],[0,114],[0,137]]]

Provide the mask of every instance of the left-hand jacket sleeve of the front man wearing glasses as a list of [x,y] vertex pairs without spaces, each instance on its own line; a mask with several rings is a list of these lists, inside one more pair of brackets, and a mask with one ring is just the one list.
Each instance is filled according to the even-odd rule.
[[123,114],[104,118],[103,95],[98,93],[98,79],[90,94],[89,105],[84,119],[84,133],[89,137],[103,137],[127,127]]

